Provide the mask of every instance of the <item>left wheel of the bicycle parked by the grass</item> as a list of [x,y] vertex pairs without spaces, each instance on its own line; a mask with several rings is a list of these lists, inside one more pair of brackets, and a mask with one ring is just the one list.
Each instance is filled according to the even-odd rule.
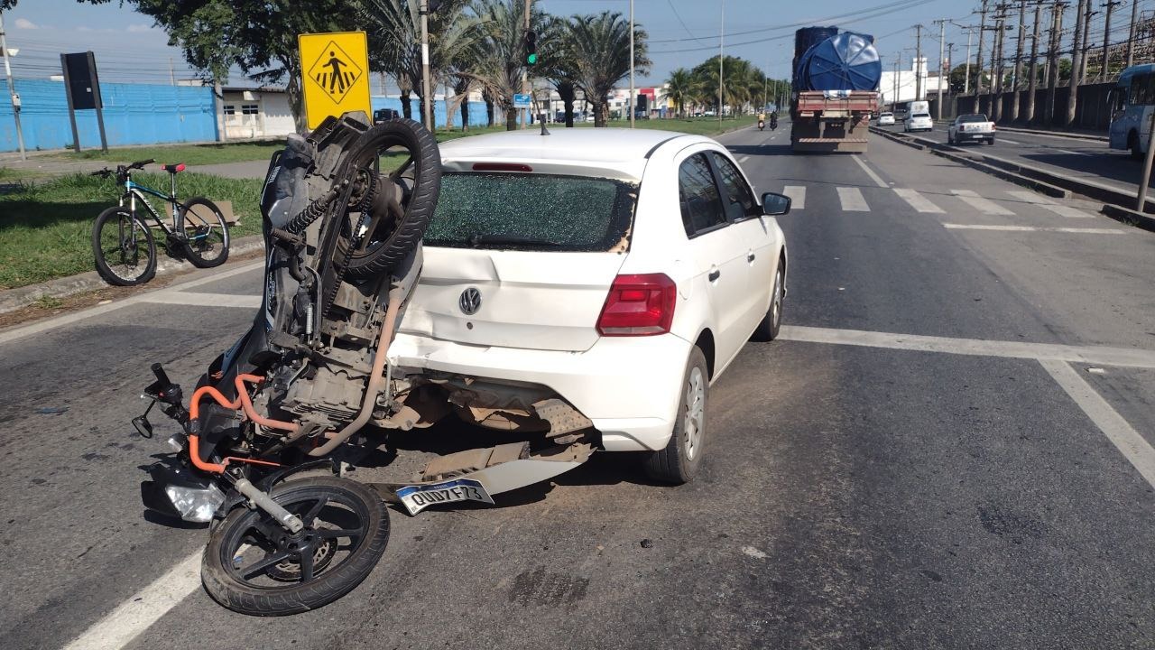
[[156,242],[148,224],[128,209],[113,206],[92,224],[96,272],[110,285],[142,285],[156,274]]

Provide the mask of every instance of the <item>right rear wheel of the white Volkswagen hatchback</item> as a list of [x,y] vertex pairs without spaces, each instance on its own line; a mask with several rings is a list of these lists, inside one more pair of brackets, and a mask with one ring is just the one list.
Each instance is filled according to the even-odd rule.
[[698,474],[706,441],[706,407],[710,381],[706,355],[698,347],[690,350],[686,374],[678,389],[678,414],[665,449],[646,457],[646,473],[655,481],[688,483]]

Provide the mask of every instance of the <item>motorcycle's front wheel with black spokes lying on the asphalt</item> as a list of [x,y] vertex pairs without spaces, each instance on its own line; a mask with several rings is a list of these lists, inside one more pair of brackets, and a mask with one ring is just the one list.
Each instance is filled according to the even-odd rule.
[[315,477],[269,495],[305,527],[290,533],[263,510],[230,512],[201,563],[204,590],[221,605],[255,616],[315,610],[352,591],[385,553],[388,511],[362,483]]

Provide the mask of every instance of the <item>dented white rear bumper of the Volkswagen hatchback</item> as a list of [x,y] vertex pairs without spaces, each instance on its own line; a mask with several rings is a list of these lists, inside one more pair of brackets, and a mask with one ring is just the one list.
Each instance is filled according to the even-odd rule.
[[664,448],[670,438],[691,347],[673,334],[605,337],[584,352],[470,346],[398,334],[389,352],[395,376],[440,383],[453,393],[449,402],[459,415],[479,424],[501,428],[509,421],[514,428],[522,412],[543,420],[542,405],[560,398],[598,431],[606,451],[646,451]]

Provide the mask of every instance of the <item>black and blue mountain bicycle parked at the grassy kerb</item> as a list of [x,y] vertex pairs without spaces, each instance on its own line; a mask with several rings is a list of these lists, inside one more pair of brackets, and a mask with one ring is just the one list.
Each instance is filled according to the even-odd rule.
[[[171,191],[165,194],[133,183],[134,169],[155,160],[137,161],[127,165],[94,171],[92,176],[109,178],[116,176],[117,184],[124,185],[120,202],[100,213],[92,224],[92,256],[96,272],[110,285],[132,287],[142,285],[156,274],[156,241],[144,221],[152,221],[164,231],[165,249],[169,254],[180,256],[199,268],[219,266],[229,259],[229,226],[221,209],[204,197],[187,201],[177,200],[177,173],[185,170],[181,164],[165,164],[161,169],[169,172]],[[172,206],[172,227],[164,222],[148,202],[146,194],[163,199]],[[139,209],[143,206],[143,209]]]

